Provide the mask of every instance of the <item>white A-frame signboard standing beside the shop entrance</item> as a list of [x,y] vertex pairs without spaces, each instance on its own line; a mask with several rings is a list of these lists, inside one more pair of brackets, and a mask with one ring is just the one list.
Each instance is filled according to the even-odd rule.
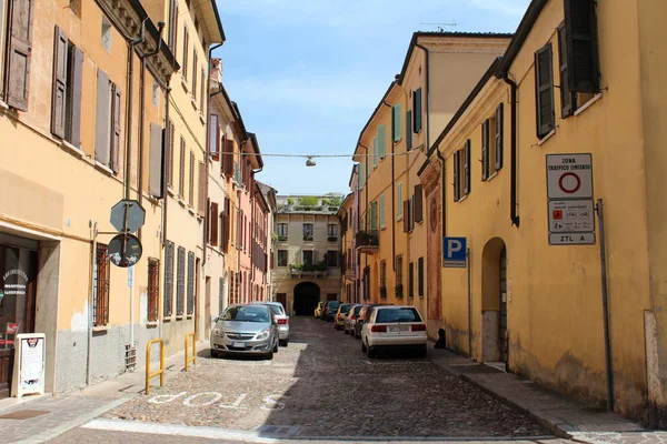
[[47,336],[43,333],[17,335],[11,389],[16,397],[44,394],[46,342]]

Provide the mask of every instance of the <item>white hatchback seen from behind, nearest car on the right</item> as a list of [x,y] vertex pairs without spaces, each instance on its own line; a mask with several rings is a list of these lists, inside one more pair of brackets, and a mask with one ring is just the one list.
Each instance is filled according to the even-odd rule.
[[377,305],[371,307],[361,327],[361,351],[375,357],[379,349],[416,349],[426,356],[426,324],[411,305]]

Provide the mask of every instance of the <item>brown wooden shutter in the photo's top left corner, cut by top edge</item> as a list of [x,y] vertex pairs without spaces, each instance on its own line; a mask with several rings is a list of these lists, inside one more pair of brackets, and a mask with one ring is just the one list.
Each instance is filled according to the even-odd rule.
[[7,104],[19,111],[28,111],[34,2],[12,0],[10,7],[4,97]]

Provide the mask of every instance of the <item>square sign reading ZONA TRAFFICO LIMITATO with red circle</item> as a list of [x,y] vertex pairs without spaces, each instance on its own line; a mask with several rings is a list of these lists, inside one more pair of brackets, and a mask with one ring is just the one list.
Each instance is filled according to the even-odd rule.
[[590,154],[547,154],[548,199],[593,199]]

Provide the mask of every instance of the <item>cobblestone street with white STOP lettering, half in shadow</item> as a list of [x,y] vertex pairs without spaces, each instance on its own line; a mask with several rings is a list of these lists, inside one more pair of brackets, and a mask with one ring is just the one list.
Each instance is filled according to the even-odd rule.
[[289,346],[272,361],[210,359],[201,351],[193,371],[162,390],[153,387],[50,442],[560,442],[428,359],[369,361],[360,341],[331,323],[299,316],[290,324]]

